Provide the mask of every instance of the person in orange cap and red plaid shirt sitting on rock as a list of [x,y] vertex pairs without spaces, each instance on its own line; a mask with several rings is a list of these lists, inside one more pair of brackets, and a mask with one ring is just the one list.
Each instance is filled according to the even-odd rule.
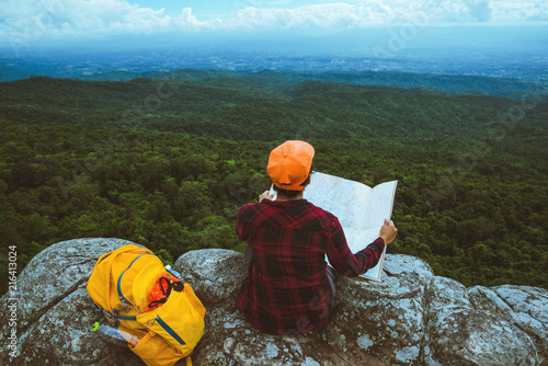
[[271,151],[266,172],[277,199],[265,191],[238,210],[236,231],[248,241],[247,272],[236,307],[270,334],[300,334],[319,328],[334,305],[333,270],[353,277],[374,267],[397,233],[385,220],[379,237],[353,254],[339,219],[302,198],[310,183],[313,147],[290,140]]

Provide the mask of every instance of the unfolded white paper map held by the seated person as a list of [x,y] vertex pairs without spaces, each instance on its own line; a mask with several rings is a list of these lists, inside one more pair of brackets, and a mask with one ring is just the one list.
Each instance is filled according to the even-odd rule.
[[[385,218],[392,215],[398,181],[381,183],[374,188],[339,176],[312,173],[304,198],[335,215],[343,227],[349,248],[356,253],[378,238]],[[378,264],[362,277],[380,281],[385,251]]]

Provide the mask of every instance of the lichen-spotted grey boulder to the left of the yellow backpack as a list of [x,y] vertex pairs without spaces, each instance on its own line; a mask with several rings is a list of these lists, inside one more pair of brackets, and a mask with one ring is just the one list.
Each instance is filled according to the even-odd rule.
[[[142,365],[129,350],[102,342],[91,331],[104,317],[95,311],[85,285],[98,259],[130,242],[119,239],[77,239],[56,243],[37,254],[18,277],[18,300],[8,295],[1,309],[16,305],[18,353],[0,344],[1,365]],[[0,319],[2,339],[11,332]]]

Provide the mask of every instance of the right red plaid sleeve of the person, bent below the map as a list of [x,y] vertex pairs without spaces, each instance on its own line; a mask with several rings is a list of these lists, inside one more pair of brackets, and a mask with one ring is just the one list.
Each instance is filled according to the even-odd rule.
[[353,254],[339,219],[332,216],[328,231],[328,259],[329,263],[343,276],[354,277],[377,265],[384,249],[385,241],[377,238],[367,248]]

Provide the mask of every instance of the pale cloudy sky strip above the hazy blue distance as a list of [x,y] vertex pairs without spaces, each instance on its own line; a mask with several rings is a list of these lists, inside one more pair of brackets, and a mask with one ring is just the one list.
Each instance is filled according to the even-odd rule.
[[0,39],[398,24],[548,25],[548,0],[1,0]]

